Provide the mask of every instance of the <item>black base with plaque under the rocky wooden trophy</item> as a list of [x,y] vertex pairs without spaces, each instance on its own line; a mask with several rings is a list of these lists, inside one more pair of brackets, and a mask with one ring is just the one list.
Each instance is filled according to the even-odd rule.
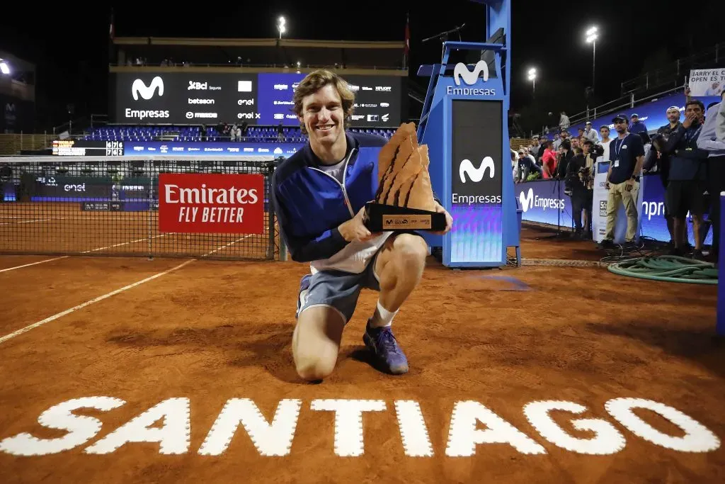
[[397,207],[368,202],[365,204],[365,226],[369,231],[409,231],[446,229],[446,214],[418,210],[417,208]]

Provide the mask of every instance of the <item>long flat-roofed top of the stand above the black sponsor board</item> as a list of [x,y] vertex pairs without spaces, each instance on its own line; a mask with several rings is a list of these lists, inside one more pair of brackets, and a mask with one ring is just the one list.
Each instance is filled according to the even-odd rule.
[[[407,75],[404,41],[318,41],[296,38],[117,37],[117,66],[140,57],[158,67],[164,60],[187,67],[247,67],[260,70],[309,70],[344,67],[398,71]],[[299,64],[298,64],[299,62]],[[136,65],[133,65],[136,67]],[[112,68],[112,71],[115,70]]]

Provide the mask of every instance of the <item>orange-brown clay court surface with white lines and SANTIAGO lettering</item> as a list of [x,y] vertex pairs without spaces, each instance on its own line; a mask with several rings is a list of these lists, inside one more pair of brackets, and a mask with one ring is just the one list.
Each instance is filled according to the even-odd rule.
[[[148,247],[136,214],[92,215],[128,224],[79,252]],[[601,257],[538,235],[525,260]],[[394,320],[410,373],[370,366],[363,292],[310,385],[290,350],[307,265],[205,260],[239,236],[219,237],[188,258],[0,257],[2,482],[725,480],[716,286],[431,257]]]

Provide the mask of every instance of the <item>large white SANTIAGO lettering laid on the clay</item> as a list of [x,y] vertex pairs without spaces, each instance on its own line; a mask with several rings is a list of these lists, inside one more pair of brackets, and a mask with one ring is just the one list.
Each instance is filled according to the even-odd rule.
[[[192,412],[191,399],[175,397],[159,401],[106,432],[105,415],[128,405],[110,396],[62,401],[41,412],[37,417],[39,427],[31,430],[32,433],[0,436],[4,437],[0,440],[0,451],[12,456],[49,456],[83,447],[83,454],[78,456],[90,458],[128,448],[145,448],[166,456],[197,454],[233,458],[230,451],[234,448],[233,440],[248,436],[260,456],[289,456],[300,451],[310,454],[305,436],[295,435],[300,415],[302,418],[309,415],[308,409],[325,412],[334,421],[329,446],[315,448],[315,452],[346,458],[375,452],[365,446],[363,422],[390,422],[391,418],[397,423],[394,427],[381,427],[391,432],[386,438],[388,447],[418,459],[434,456],[456,459],[476,454],[490,457],[498,448],[515,451],[518,459],[542,459],[541,456],[550,453],[558,456],[562,451],[579,454],[579,459],[602,459],[601,456],[626,453],[628,439],[641,440],[651,452],[660,451],[663,455],[683,452],[693,458],[721,447],[718,436],[703,423],[681,409],[646,398],[610,398],[603,405],[606,413],[574,401],[531,401],[518,410],[529,424],[526,428],[516,427],[494,409],[473,400],[453,402],[450,417],[445,417],[443,422],[430,418],[431,414],[439,416],[439,409],[421,406],[415,400],[338,398],[303,403],[298,398],[285,398],[276,407],[270,407],[273,414],[266,417],[268,412],[262,413],[251,398],[229,398],[207,430],[198,429],[198,422],[192,422],[192,415],[198,417],[198,409]],[[303,405],[305,412],[301,412]],[[429,416],[427,422],[423,409]],[[593,411],[602,417],[592,417]],[[394,417],[386,413],[394,413]],[[38,431],[41,428],[43,432]],[[447,429],[447,440],[442,446],[434,445],[444,429]],[[299,444],[294,449],[293,441]]]

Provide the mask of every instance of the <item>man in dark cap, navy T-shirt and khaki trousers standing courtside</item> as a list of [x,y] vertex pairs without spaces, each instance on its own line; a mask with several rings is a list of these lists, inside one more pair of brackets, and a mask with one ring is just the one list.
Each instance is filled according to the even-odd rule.
[[607,197],[607,231],[601,247],[611,247],[614,243],[614,229],[617,222],[619,207],[624,203],[627,216],[627,231],[624,237],[626,245],[634,244],[637,237],[637,196],[639,194],[639,173],[645,160],[645,149],[642,139],[627,130],[627,116],[616,115],[612,122],[618,136],[610,146],[610,158],[606,188]]

